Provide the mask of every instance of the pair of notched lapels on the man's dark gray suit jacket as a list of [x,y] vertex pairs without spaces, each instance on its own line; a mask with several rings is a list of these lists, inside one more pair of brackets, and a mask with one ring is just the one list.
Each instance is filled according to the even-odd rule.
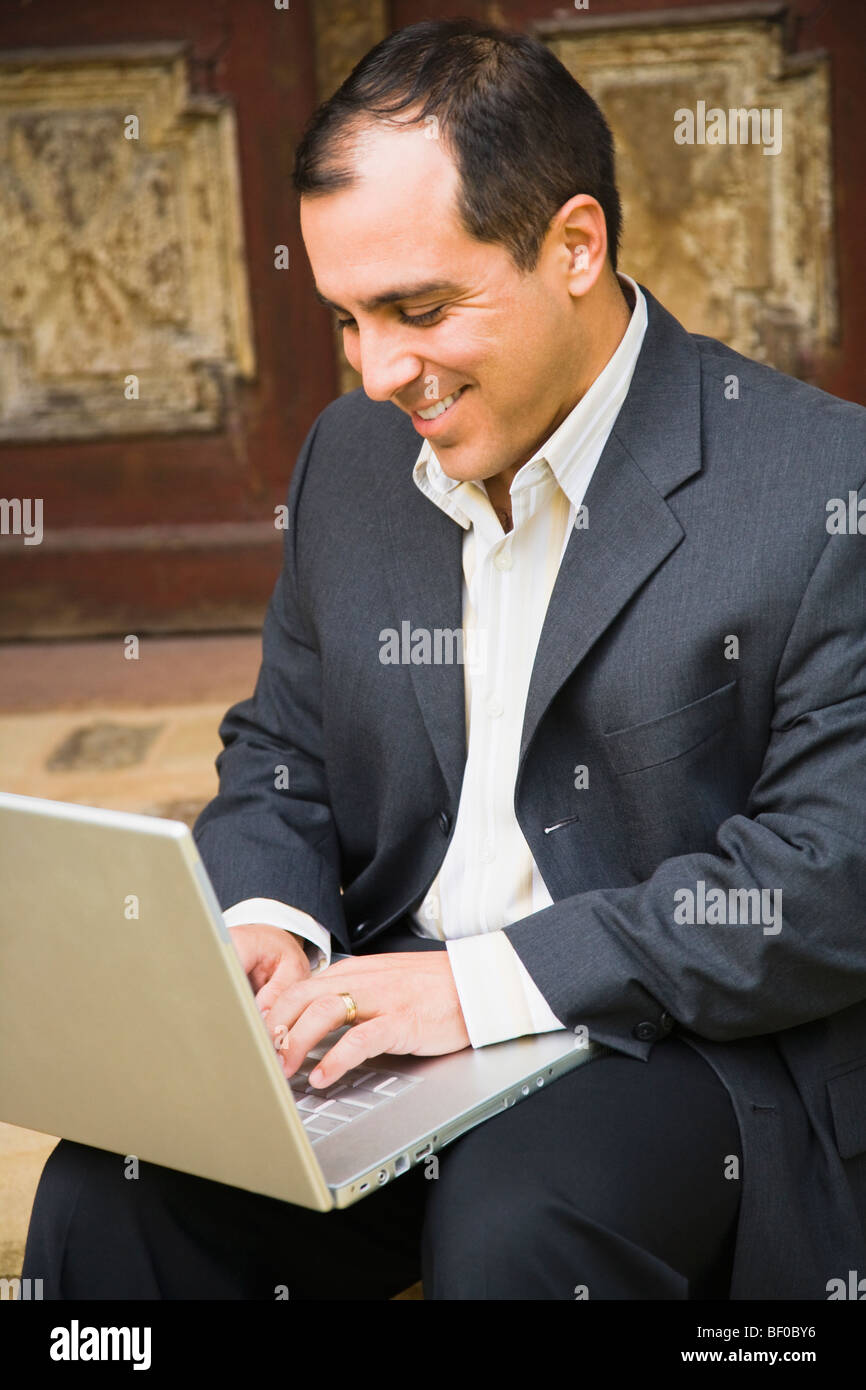
[[[701,470],[701,364],[681,324],[641,285],[648,325],[626,402],[592,475],[588,525],[571,532],[541,631],[527,695],[520,769],[556,692],[628,600],[683,539],[664,500]],[[418,438],[418,436],[416,436]],[[384,562],[399,620],[460,628],[463,527],[416,486],[411,456],[382,470]],[[427,731],[449,788],[466,764],[463,666],[411,666]],[[520,780],[520,770],[518,770]]]

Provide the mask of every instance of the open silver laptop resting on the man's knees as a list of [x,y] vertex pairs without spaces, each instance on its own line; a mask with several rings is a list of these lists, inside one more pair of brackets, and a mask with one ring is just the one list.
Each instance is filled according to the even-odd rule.
[[0,1120],[328,1211],[609,1051],[560,1030],[316,1091],[339,1031],[285,1079],[182,821],[0,792]]

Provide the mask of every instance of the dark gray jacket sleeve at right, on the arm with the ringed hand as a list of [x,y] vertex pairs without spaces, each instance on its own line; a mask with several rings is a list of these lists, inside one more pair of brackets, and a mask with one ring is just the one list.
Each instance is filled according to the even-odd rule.
[[[778,663],[760,773],[716,847],[505,929],[569,1027],[642,1058],[666,1015],[733,1041],[866,998],[866,535],[830,535],[820,553]],[[734,920],[678,920],[684,894],[712,890],[740,901]],[[778,920],[749,917],[737,890],[763,892]]]

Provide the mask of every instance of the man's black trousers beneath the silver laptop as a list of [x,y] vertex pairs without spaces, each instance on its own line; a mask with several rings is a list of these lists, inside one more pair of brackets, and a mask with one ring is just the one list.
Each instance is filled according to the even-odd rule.
[[[391,933],[375,949],[427,945]],[[431,944],[432,945],[432,944]],[[737,1156],[737,1165],[731,1158]],[[485,1120],[341,1212],[61,1140],[28,1232],[46,1298],[726,1298],[741,1166],[713,1069],[676,1033]]]

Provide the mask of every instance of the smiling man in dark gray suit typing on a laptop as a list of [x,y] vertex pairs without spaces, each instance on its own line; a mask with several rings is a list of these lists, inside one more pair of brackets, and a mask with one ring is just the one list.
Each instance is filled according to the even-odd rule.
[[612,1052],[325,1216],[61,1144],[25,1275],[824,1298],[866,1266],[866,555],[827,523],[866,411],[617,272],[609,131],[531,39],[392,35],[295,182],[363,392],[296,463],[202,856],[286,1076],[345,1022],[314,1084]]

